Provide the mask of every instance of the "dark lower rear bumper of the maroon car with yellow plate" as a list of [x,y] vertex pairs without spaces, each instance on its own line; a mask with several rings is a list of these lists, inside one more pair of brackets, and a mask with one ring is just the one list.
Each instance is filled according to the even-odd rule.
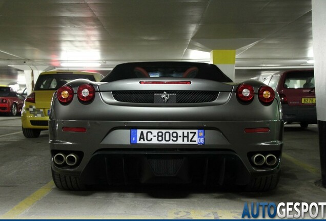
[[317,123],[316,106],[289,106],[282,104],[284,122]]

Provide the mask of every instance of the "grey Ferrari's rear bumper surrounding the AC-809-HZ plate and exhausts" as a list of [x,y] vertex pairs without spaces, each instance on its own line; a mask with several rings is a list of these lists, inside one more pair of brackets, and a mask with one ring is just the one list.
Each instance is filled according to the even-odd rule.
[[[181,124],[181,126],[180,126]],[[277,173],[283,121],[112,122],[50,120],[51,166],[58,173],[80,176],[85,184],[189,183],[200,181],[245,185],[252,176]],[[86,127],[86,132],[60,128]],[[244,133],[244,128],[269,132]],[[130,144],[131,128],[204,129],[205,145]],[[56,153],[76,153],[74,167],[54,164]],[[273,153],[277,163],[257,167],[254,153]]]

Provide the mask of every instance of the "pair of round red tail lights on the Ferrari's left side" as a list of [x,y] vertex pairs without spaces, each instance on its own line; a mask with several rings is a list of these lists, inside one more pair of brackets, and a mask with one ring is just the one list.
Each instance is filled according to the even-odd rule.
[[[60,103],[68,104],[74,97],[74,90],[71,86],[62,86],[56,92]],[[77,89],[77,98],[82,103],[90,102],[95,97],[95,89],[91,84],[81,84]]]

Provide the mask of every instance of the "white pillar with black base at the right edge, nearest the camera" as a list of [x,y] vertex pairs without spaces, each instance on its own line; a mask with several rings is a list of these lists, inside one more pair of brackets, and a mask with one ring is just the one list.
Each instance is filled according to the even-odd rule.
[[326,188],[326,1],[312,0],[316,107],[322,185]]

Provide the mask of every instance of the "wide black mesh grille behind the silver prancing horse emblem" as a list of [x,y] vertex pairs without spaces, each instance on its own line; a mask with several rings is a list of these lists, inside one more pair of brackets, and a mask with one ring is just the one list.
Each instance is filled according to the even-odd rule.
[[157,103],[157,97],[160,99],[160,95],[165,92],[171,97],[176,96],[174,103],[212,102],[218,96],[218,92],[214,91],[113,91],[112,94],[114,99],[120,102]]

